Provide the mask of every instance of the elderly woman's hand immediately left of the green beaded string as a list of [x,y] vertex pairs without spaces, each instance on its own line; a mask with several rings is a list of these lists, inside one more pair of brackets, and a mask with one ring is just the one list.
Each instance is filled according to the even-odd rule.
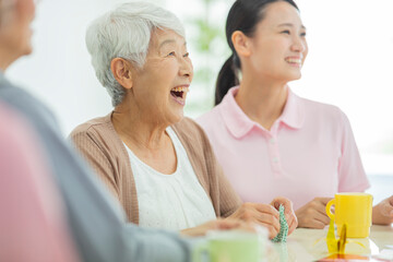
[[271,239],[279,233],[279,213],[270,204],[243,203],[229,217],[266,227]]

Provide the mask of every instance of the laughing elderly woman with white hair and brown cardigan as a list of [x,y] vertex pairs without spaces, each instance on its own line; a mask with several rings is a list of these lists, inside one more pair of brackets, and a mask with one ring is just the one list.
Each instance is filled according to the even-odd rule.
[[193,68],[184,29],[152,3],[124,3],[88,27],[86,45],[114,111],[71,133],[76,148],[121,203],[128,219],[147,227],[203,235],[216,217],[279,231],[281,204],[289,231],[291,202],[240,202],[201,128],[183,117]]

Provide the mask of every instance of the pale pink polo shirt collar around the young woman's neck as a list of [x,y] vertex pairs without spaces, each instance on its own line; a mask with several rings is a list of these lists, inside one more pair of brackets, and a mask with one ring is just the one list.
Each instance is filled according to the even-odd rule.
[[[259,123],[252,121],[239,107],[235,96],[239,86],[231,87],[218,105],[219,112],[229,132],[237,139],[249,133],[252,128],[263,129]],[[305,122],[305,110],[302,100],[288,88],[287,103],[282,116],[276,122],[283,122],[289,128],[300,129]],[[274,123],[273,126],[277,124]]]

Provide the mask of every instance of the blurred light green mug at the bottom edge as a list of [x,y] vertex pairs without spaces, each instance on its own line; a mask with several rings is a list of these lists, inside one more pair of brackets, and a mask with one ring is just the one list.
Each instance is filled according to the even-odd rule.
[[239,230],[209,231],[206,238],[196,245],[192,261],[261,262],[265,254],[266,242],[266,231],[259,234]]

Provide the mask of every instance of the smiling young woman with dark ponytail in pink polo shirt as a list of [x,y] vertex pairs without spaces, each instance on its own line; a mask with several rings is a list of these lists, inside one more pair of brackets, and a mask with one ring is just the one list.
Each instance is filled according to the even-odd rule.
[[[308,53],[296,3],[237,0],[226,36],[233,55],[218,74],[218,105],[198,122],[243,201],[284,195],[294,202],[300,227],[323,228],[334,193],[364,191],[369,182],[347,117],[287,85],[300,79]],[[391,202],[383,204],[391,209]],[[374,223],[393,222],[377,214]]]

